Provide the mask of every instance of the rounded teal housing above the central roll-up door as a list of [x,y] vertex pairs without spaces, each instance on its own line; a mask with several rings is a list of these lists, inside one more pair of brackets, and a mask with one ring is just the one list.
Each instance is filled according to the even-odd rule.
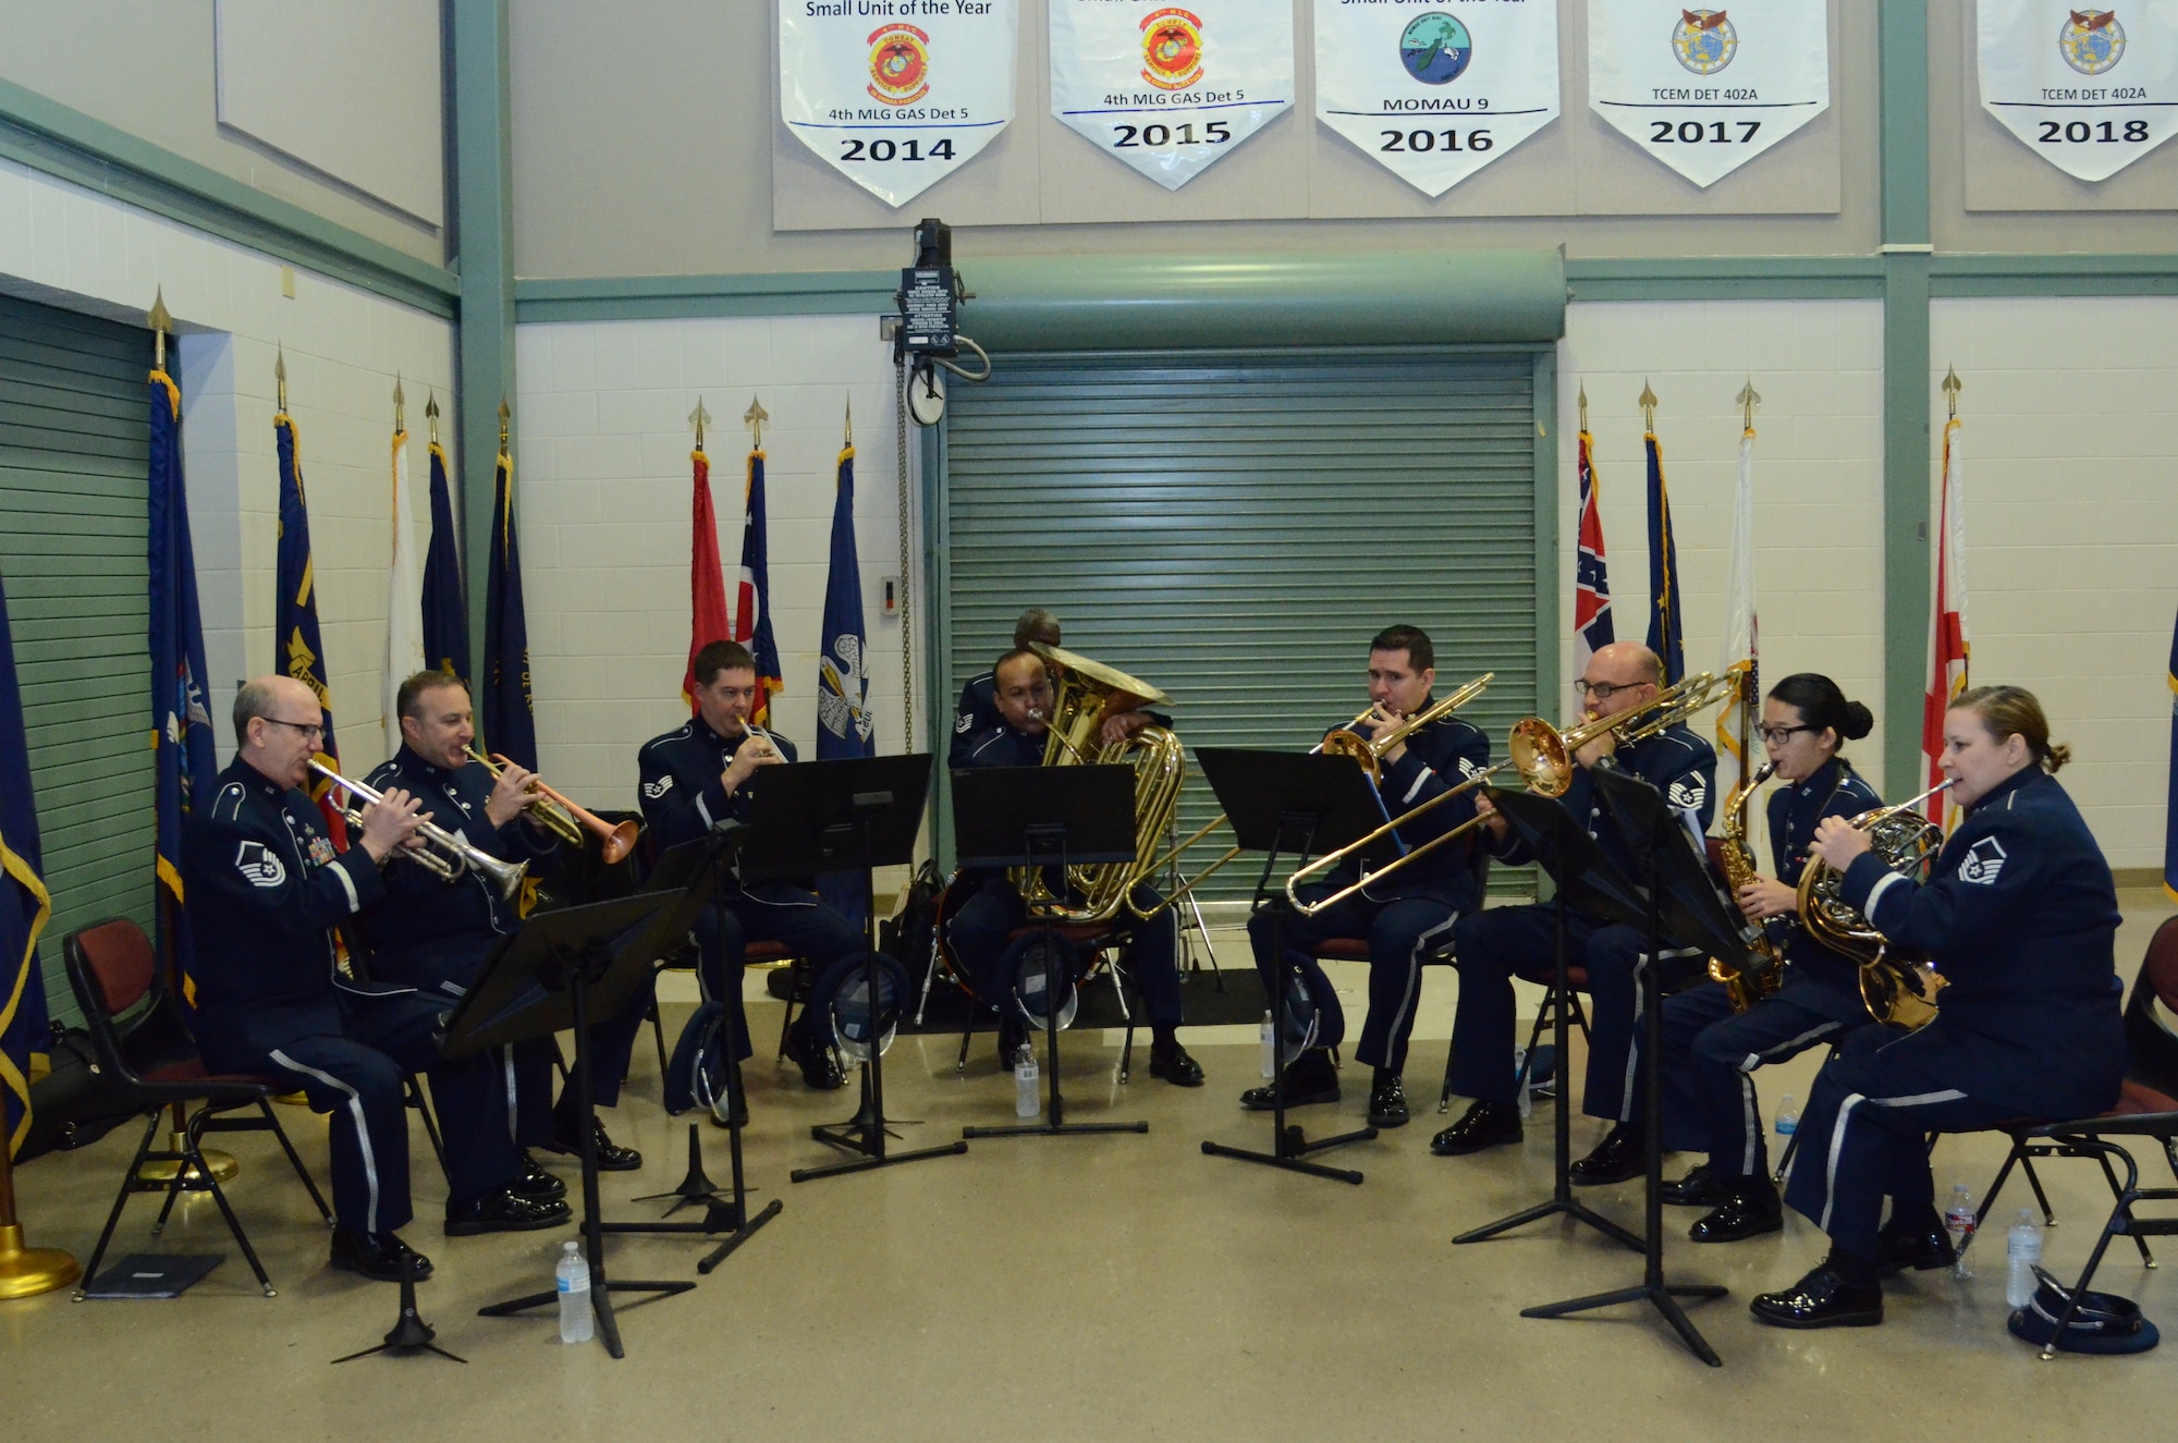
[[[958,259],[958,257],[956,257]],[[1566,334],[1557,251],[958,259],[987,351],[1518,344]]]

